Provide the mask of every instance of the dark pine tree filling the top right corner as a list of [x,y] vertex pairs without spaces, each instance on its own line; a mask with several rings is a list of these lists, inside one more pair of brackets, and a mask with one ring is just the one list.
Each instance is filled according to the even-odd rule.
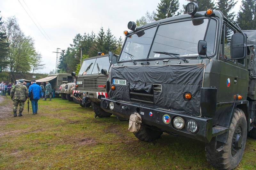
[[237,22],[242,30],[256,29],[255,8],[255,0],[242,0],[241,8],[237,14]]

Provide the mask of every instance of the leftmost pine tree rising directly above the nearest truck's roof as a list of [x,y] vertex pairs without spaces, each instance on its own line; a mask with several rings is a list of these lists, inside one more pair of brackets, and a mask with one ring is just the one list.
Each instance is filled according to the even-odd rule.
[[[160,19],[165,19],[166,17],[168,18],[168,17],[175,16],[176,12],[179,10],[179,5],[180,5],[179,0],[161,0],[161,2],[157,5],[157,9],[156,9],[157,13],[154,19],[160,20]],[[177,13],[177,15],[178,14],[179,13]]]

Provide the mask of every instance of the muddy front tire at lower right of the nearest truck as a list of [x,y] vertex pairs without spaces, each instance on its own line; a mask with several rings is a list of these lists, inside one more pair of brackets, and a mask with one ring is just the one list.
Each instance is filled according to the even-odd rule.
[[[241,135],[241,145],[236,143],[238,135]],[[247,137],[247,121],[244,112],[236,109],[228,133],[227,143],[223,150],[217,152],[214,144],[205,145],[205,154],[208,162],[217,169],[234,169],[244,153]],[[211,141],[213,142],[213,141]],[[241,147],[241,148],[240,148]]]

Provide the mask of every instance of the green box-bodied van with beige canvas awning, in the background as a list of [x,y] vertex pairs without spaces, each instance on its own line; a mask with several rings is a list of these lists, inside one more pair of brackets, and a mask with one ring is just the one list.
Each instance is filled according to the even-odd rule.
[[68,73],[57,73],[57,74],[49,74],[47,77],[44,77],[42,79],[36,80],[36,83],[40,85],[41,82],[49,81],[49,83],[52,85],[52,89],[54,90],[55,96],[59,96],[60,91],[60,85],[64,83],[70,83],[72,82],[72,76]]

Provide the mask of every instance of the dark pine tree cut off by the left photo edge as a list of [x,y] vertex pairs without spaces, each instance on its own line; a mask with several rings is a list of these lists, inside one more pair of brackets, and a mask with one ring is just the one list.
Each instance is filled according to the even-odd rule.
[[[4,22],[1,21],[2,17],[0,18],[0,27]],[[9,43],[6,41],[5,32],[0,32],[0,72],[5,71],[8,67],[8,47]]]

